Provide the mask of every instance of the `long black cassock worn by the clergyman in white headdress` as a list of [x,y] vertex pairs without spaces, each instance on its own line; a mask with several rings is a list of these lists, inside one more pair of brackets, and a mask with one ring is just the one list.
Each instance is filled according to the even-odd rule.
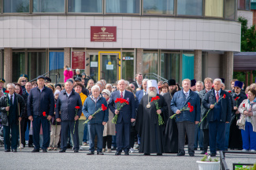
[[[160,98],[158,100],[159,108],[161,108],[161,116],[166,121],[167,117],[167,105],[165,99],[158,94]],[[141,137],[139,146],[139,153],[164,153],[164,136],[163,131],[165,124],[158,124],[158,114],[154,102],[150,102],[151,98],[148,98],[148,94],[144,95],[139,103],[138,114],[136,117],[136,130]],[[150,102],[150,108],[147,108],[147,104]]]

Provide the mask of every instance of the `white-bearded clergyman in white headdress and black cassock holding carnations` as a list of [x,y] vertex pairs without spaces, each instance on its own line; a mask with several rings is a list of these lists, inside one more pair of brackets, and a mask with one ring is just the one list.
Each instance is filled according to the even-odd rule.
[[158,94],[158,83],[154,79],[147,81],[147,94],[139,103],[136,118],[136,130],[141,136],[139,153],[150,155],[164,153],[164,123],[168,108],[165,99]]

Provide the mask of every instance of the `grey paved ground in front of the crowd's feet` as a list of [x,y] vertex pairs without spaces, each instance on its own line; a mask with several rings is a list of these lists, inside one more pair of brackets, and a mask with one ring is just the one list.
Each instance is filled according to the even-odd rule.
[[[21,152],[5,153],[4,147],[0,147],[0,169],[172,169],[172,170],[196,170],[196,161],[202,159],[200,150],[195,151],[195,157],[177,157],[176,154],[164,154],[163,156],[143,156],[143,154],[130,153],[130,156],[115,156],[113,153],[105,153],[103,156],[87,156],[88,146],[83,146],[83,151],[66,153],[49,151],[48,153],[31,153],[32,148],[24,148]],[[187,151],[187,150],[186,150]],[[217,155],[218,157],[219,155]],[[228,168],[232,169],[232,163],[256,162],[256,154],[226,154]]]

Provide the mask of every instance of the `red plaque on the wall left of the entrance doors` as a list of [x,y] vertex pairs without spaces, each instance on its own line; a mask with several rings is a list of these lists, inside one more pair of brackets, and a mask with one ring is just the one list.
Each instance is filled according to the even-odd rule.
[[72,69],[85,69],[85,52],[72,52]]

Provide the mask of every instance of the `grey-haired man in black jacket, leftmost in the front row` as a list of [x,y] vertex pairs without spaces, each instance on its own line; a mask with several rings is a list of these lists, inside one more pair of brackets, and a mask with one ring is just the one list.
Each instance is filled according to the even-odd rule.
[[[5,152],[10,152],[10,147],[12,147],[13,152],[17,152],[19,124],[24,116],[26,105],[24,99],[19,94],[14,93],[15,85],[13,83],[7,84],[7,91],[9,93],[0,98]],[[10,134],[12,135],[11,142],[9,139]]]

